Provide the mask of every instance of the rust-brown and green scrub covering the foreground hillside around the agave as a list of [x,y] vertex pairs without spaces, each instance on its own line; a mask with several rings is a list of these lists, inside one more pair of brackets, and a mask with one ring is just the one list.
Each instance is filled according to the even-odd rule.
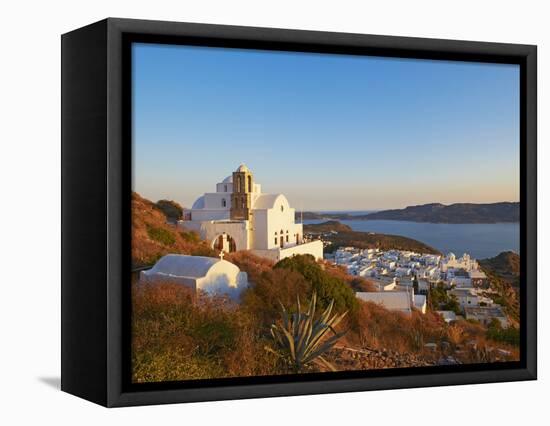
[[[166,253],[212,255],[197,234],[176,230],[152,202],[133,195],[132,259],[151,265]],[[321,308],[334,300],[334,314],[348,312],[334,330],[344,333],[327,354],[336,370],[437,365],[452,355],[461,363],[504,360],[487,348],[518,349],[508,336],[459,321],[453,325],[428,312],[411,316],[362,302],[354,291],[372,291],[372,284],[339,266],[295,256],[273,264],[247,251],[226,257],[247,272],[250,287],[239,303],[224,297],[195,294],[170,283],[132,283],[132,378],[134,382],[212,379],[291,374],[274,353],[272,325],[281,324],[281,305],[289,313],[315,292]],[[499,342],[496,342],[499,340]],[[435,343],[427,349],[426,343]],[[328,371],[311,364],[303,372]]]

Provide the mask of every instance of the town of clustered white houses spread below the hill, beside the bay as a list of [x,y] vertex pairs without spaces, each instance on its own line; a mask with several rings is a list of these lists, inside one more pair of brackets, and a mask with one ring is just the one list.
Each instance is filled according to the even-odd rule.
[[[443,285],[447,294],[456,298],[466,319],[485,325],[498,319],[503,327],[508,325],[502,307],[487,296],[490,294],[487,276],[467,253],[457,259],[453,253],[442,257],[403,250],[341,247],[325,258],[376,286],[377,291],[358,292],[356,296],[361,300],[393,311],[411,313],[415,308],[425,313],[430,287]],[[452,311],[438,312],[447,322],[460,318]]]

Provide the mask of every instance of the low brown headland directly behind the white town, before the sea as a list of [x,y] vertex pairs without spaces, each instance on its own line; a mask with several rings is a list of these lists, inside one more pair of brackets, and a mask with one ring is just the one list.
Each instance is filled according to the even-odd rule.
[[441,254],[435,248],[412,238],[354,231],[336,220],[304,225],[304,233],[313,238],[322,237],[323,240],[330,242],[330,245],[325,248],[325,252],[336,250],[342,246],[352,246],[363,249],[378,248],[380,250],[407,250],[426,254]]

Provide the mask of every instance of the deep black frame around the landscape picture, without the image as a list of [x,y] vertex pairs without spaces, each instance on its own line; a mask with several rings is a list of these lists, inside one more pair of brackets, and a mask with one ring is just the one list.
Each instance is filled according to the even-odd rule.
[[[118,18],[61,41],[62,390],[116,407],[536,379],[536,46]],[[132,42],[519,64],[520,361],[131,384]]]

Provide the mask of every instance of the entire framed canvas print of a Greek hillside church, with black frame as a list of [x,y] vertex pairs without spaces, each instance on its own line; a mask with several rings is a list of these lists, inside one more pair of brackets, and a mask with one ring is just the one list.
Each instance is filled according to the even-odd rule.
[[66,392],[536,378],[535,46],[107,19],[62,167]]

